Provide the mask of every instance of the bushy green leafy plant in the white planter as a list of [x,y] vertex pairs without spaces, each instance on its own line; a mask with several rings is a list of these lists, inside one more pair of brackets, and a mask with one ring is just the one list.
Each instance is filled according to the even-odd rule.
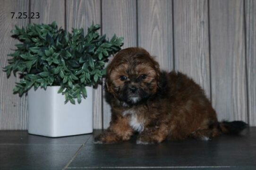
[[9,78],[11,72],[20,75],[20,81],[13,89],[19,96],[29,89],[60,86],[58,93],[65,95],[67,103],[80,103],[86,98],[85,86],[96,85],[105,74],[108,57],[120,50],[123,38],[97,32],[98,24],[92,24],[84,35],[83,29],[73,29],[69,33],[52,24],[29,24],[26,28],[16,26],[11,31],[21,43],[9,54],[9,65],[4,71]]

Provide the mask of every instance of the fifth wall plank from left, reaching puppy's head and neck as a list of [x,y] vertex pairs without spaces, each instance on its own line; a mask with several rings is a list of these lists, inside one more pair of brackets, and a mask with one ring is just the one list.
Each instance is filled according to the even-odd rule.
[[172,1],[138,0],[138,46],[155,56],[161,68],[173,69]]

